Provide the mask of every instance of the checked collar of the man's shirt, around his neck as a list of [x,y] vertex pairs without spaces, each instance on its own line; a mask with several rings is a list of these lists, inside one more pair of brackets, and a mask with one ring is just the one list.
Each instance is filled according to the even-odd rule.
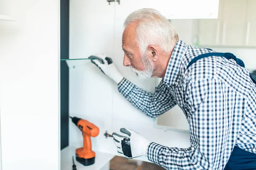
[[168,86],[175,83],[180,71],[181,59],[186,54],[187,49],[188,48],[185,42],[182,40],[177,40],[163,79],[165,84]]

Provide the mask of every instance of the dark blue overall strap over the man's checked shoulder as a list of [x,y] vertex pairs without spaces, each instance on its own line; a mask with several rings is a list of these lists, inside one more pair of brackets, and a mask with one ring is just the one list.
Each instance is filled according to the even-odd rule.
[[[240,65],[241,67],[245,67],[244,62],[239,59],[236,58],[236,56],[232,53],[205,53],[205,54],[201,54],[198,57],[193,58],[190,62],[189,65],[187,66],[187,69],[193,64],[195,63],[197,60],[205,58],[205,57],[211,57],[211,56],[216,56],[216,57],[225,57],[226,59],[234,59],[236,61],[236,63],[238,65]],[[252,81],[254,82],[254,84],[256,85],[256,80],[253,78],[253,76],[250,74],[250,78],[252,79]]]

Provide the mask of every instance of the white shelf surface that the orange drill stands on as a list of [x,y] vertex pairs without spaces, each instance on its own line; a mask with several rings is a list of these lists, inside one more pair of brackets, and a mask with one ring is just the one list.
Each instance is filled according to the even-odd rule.
[[107,162],[109,162],[115,155],[110,153],[97,152],[95,156],[95,163],[89,166],[84,166],[76,161],[76,147],[68,146],[61,150],[61,170],[72,170],[73,160],[76,164],[77,170],[100,170]]

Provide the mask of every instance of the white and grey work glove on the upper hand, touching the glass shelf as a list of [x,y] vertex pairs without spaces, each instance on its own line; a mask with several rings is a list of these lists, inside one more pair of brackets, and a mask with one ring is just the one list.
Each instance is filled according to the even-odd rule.
[[119,84],[124,78],[116,69],[112,59],[107,57],[106,54],[95,54],[90,56],[89,59],[91,59],[91,62],[99,67],[105,75],[113,79],[116,84]]

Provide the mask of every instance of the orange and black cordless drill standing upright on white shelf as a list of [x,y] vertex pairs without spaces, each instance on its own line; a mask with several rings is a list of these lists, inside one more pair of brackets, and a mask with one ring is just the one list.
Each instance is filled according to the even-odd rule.
[[76,161],[83,164],[84,166],[94,164],[95,152],[92,151],[90,136],[98,136],[99,127],[97,127],[93,123],[88,122],[87,120],[78,117],[70,118],[72,119],[72,122],[76,124],[76,126],[81,130],[84,138],[84,147],[76,149]]

